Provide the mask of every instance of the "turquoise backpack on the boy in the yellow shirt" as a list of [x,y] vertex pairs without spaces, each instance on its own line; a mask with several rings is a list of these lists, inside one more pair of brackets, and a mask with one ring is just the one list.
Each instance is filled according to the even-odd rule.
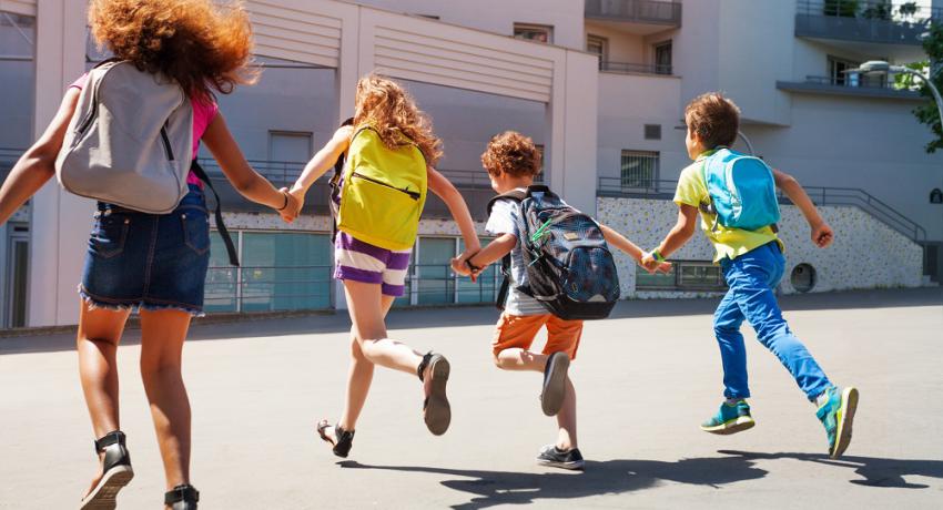
[[773,172],[763,160],[721,147],[701,165],[710,203],[701,211],[729,228],[756,231],[779,222]]

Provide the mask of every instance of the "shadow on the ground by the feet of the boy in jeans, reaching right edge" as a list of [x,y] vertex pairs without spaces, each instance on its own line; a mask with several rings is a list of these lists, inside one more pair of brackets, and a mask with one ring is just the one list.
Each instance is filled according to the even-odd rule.
[[758,453],[750,451],[719,450],[718,453],[739,457],[746,461],[762,459],[794,459],[804,462],[819,462],[828,466],[854,469],[864,479],[851,480],[851,483],[866,487],[890,487],[898,489],[926,489],[930,486],[911,483],[906,476],[943,479],[943,460],[878,459],[873,457],[842,456],[832,460],[821,453]]

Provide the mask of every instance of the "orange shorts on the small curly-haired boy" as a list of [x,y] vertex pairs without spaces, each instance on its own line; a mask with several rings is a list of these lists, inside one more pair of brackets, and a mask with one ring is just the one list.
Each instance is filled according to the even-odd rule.
[[501,314],[491,343],[494,354],[511,348],[529,349],[537,333],[544,326],[547,326],[547,345],[544,346],[544,354],[564,351],[570,359],[576,359],[576,350],[582,336],[582,320],[564,320],[551,314]]

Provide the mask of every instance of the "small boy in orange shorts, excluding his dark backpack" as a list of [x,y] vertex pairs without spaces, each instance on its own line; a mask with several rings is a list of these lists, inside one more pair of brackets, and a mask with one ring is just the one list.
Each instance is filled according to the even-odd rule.
[[[481,154],[491,188],[498,194],[525,191],[540,173],[540,152],[534,142],[513,131],[493,137]],[[488,246],[453,261],[452,267],[463,275],[477,275],[489,264],[510,254],[510,285],[504,313],[495,328],[491,344],[495,365],[504,370],[530,370],[544,374],[540,405],[544,414],[557,417],[558,434],[554,445],[545,446],[537,462],[562,469],[584,469],[582,455],[577,447],[576,390],[567,375],[576,359],[582,320],[565,320],[548,313],[537,299],[518,289],[526,286],[527,272],[521,253],[521,206],[514,200],[497,200],[485,230],[498,236]],[[611,228],[600,225],[606,242],[641,262],[642,251]],[[655,268],[667,272],[662,263]],[[655,271],[655,268],[652,271]],[[530,350],[537,333],[547,328],[547,345],[543,351]]]

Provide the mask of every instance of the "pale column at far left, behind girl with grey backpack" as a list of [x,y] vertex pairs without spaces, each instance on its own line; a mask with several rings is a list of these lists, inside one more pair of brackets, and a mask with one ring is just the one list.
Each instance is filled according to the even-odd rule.
[[[84,72],[85,2],[37,6],[34,137],[55,115],[65,86]],[[33,198],[30,242],[30,326],[75,324],[79,284],[93,204],[50,182]]]

